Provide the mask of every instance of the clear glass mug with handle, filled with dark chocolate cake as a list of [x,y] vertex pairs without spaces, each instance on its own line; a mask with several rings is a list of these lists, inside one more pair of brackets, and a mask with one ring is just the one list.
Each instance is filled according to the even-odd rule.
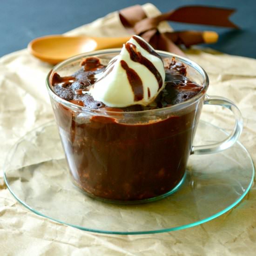
[[[86,57],[108,64],[120,49],[74,56],[56,65],[47,76],[54,116],[74,184],[87,195],[107,202],[151,202],[174,193],[185,179],[189,155],[209,154],[231,147],[242,132],[239,109],[228,99],[208,96],[206,72],[187,58],[174,56],[187,67],[189,80],[202,91],[177,105],[146,111],[113,112],[75,105],[57,96],[50,85],[54,72],[70,76]],[[230,109],[236,119],[226,140],[193,146],[203,104]]]

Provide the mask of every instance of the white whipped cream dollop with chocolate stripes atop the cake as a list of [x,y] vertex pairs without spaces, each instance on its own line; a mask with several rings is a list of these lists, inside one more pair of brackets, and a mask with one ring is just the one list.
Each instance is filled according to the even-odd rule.
[[146,106],[164,88],[162,58],[148,42],[132,36],[121,53],[109,61],[90,94],[109,107]]

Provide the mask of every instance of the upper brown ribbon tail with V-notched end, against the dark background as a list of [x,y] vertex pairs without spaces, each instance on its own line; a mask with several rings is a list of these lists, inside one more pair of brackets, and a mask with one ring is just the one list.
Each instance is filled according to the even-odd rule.
[[227,8],[185,6],[180,7],[170,13],[165,13],[165,17],[163,17],[163,19],[217,27],[239,28],[236,26],[236,24],[229,20],[229,16],[235,11],[235,9]]

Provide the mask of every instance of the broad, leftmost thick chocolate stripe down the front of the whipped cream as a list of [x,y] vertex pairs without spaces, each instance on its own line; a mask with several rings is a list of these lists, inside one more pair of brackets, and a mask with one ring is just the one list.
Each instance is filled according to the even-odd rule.
[[125,61],[121,60],[120,63],[121,67],[126,71],[128,81],[134,92],[134,101],[141,101],[143,99],[143,84],[140,76],[134,69],[128,67]]

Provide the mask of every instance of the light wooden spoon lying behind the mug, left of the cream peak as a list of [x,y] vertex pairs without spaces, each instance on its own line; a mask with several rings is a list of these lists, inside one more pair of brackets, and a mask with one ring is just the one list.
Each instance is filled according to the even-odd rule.
[[28,44],[28,50],[41,61],[57,64],[67,58],[106,48],[122,47],[129,37],[87,37],[47,35]]

